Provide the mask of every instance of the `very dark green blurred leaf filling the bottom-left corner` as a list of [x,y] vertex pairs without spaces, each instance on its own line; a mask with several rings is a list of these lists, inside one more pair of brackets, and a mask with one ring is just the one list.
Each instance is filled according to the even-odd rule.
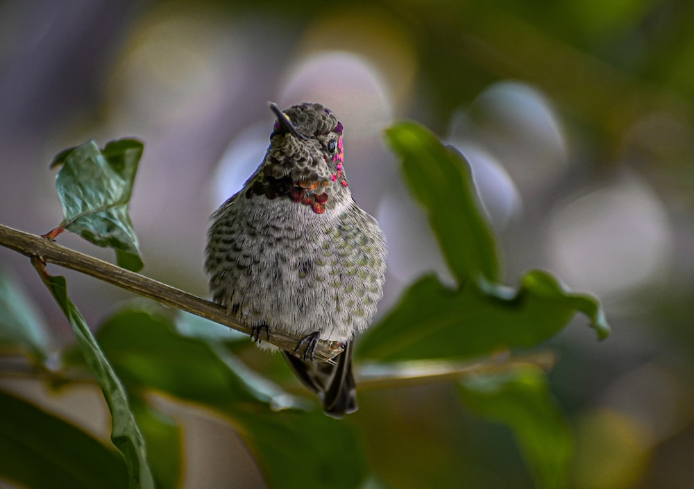
[[0,479],[32,489],[123,489],[123,458],[73,424],[0,391]]

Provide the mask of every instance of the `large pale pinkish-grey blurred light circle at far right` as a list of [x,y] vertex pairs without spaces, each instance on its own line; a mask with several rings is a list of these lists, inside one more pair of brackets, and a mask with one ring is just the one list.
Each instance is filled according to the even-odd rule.
[[550,217],[554,267],[576,287],[605,298],[668,276],[672,231],[652,189],[632,173],[555,209]]

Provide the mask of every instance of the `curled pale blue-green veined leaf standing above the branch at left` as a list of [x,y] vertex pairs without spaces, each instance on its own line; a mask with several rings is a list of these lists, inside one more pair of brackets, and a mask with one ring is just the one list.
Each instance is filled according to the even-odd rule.
[[111,141],[103,150],[93,139],[54,158],[62,227],[97,246],[115,248],[117,262],[139,271],[142,259],[128,214],[137,164],[144,145],[135,139]]

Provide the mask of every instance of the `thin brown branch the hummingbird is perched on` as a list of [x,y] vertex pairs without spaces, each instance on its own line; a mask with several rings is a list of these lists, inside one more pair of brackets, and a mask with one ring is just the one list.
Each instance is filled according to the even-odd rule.
[[[150,298],[161,304],[176,307],[201,318],[209,319],[226,327],[236,329],[242,333],[251,334],[251,327],[238,323],[235,318],[227,313],[226,308],[189,294],[167,284],[162,284],[149,277],[140,275],[112,265],[81,252],[60,246],[49,239],[36,234],[18,231],[0,224],[0,246],[10,248],[22,253],[26,257],[38,257],[45,263],[53,263],[70,270],[90,275],[109,284],[119,286],[121,289]],[[282,332],[273,331],[267,341],[273,345],[294,351],[294,347],[301,338],[290,336]],[[263,339],[263,341],[266,341]],[[335,355],[342,352],[343,348],[337,341],[319,341],[316,347],[315,358],[319,361],[329,361]]]

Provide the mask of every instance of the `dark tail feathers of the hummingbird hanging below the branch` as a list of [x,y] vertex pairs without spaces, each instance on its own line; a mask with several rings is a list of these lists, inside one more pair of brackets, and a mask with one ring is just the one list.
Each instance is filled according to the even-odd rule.
[[357,384],[352,375],[352,343],[346,343],[337,363],[301,360],[282,352],[285,360],[302,383],[318,394],[323,411],[333,418],[357,411]]

